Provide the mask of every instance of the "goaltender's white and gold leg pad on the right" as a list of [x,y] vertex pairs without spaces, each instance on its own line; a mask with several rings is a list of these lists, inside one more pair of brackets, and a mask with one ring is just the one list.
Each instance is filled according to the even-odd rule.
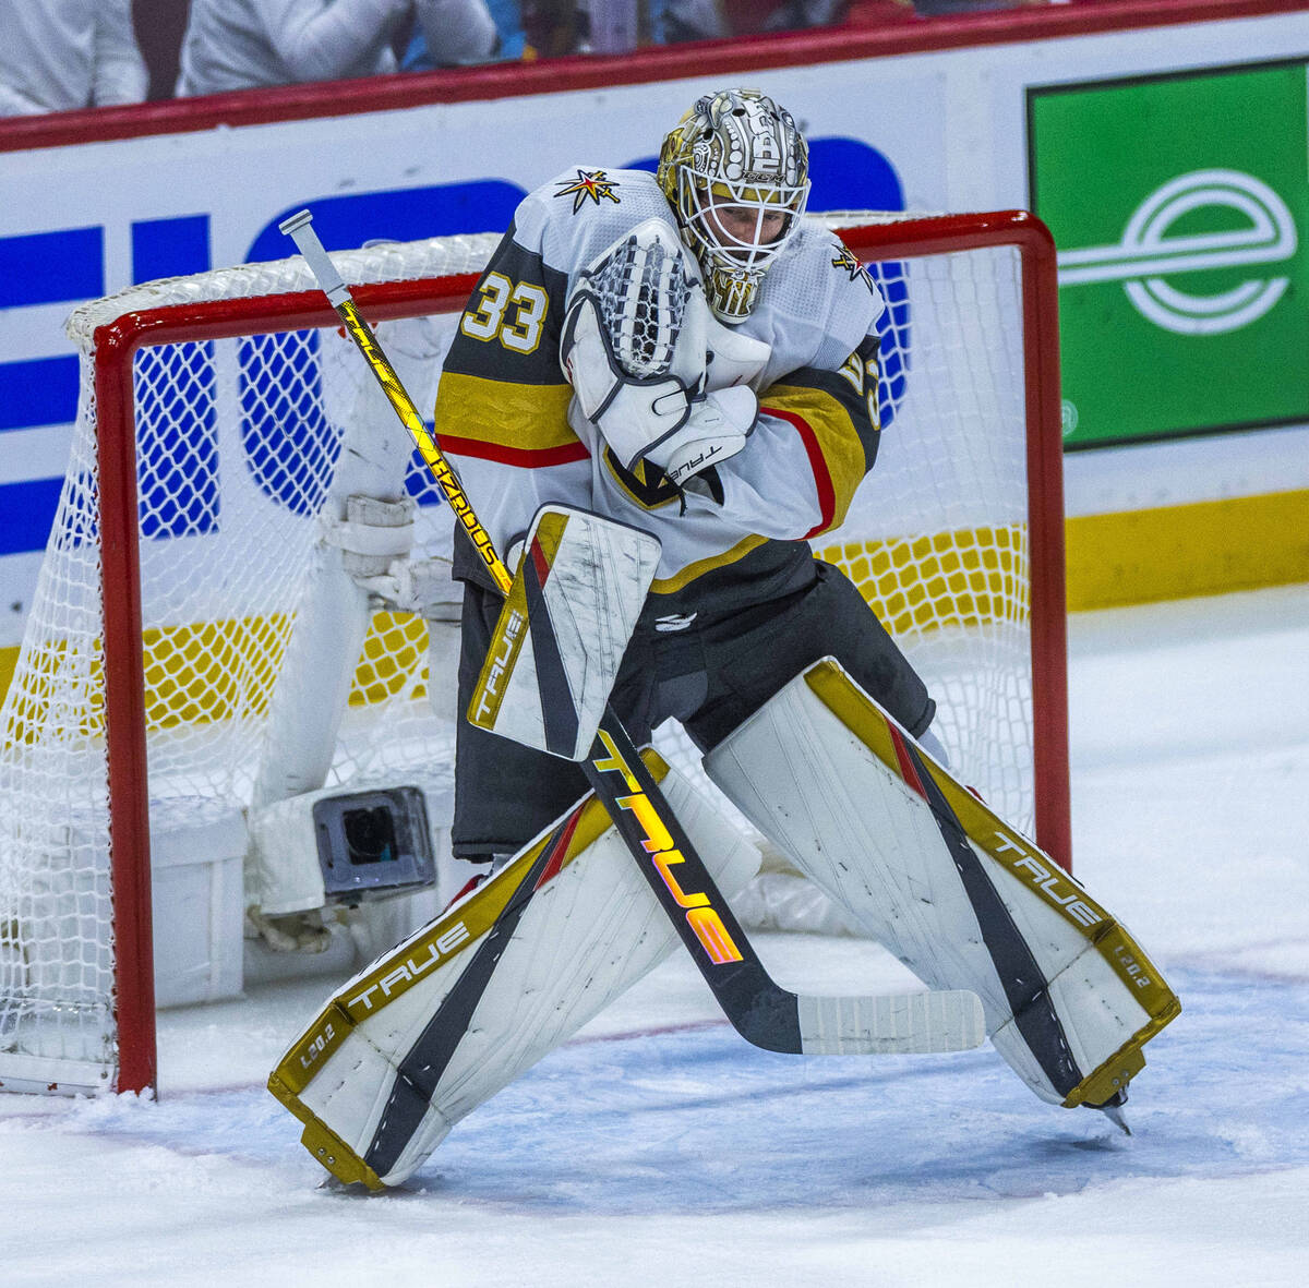
[[704,767],[924,983],[977,992],[992,1043],[1042,1100],[1109,1100],[1177,1014],[1126,929],[831,660]]

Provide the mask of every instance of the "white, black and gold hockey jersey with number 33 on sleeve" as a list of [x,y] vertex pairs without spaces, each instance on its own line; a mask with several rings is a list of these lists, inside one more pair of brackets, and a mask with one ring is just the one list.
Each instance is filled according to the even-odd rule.
[[[524,199],[474,291],[442,369],[436,431],[501,555],[537,509],[563,503],[653,533],[652,593],[758,602],[812,579],[808,538],[839,526],[878,441],[876,322],[885,305],[833,234],[805,223],[738,330],[771,346],[751,381],[761,415],[716,467],[713,496],[627,471],[580,414],[559,335],[579,272],[651,217],[675,229],[654,177],[577,166]],[[805,565],[809,565],[805,568]],[[457,575],[484,580],[456,551]]]

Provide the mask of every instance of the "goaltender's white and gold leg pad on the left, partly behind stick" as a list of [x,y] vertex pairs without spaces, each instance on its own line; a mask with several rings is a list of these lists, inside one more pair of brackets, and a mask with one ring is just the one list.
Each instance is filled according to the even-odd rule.
[[[664,772],[653,753],[647,763],[656,776]],[[661,785],[724,895],[742,889],[758,870],[758,851],[675,771]],[[516,920],[512,908],[500,916],[533,889]],[[500,942],[490,966],[483,950]],[[454,1123],[675,944],[603,806],[588,796],[338,991],[274,1071],[270,1089],[306,1124],[305,1147],[334,1175],[372,1189],[399,1185]],[[465,1013],[454,1011],[461,996]]]

